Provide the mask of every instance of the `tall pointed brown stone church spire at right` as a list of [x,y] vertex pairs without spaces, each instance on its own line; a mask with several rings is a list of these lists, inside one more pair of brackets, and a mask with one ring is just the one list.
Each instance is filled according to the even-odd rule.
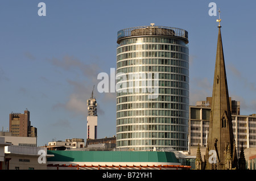
[[[212,92],[212,106],[210,111],[209,134],[206,151],[205,169],[225,169],[227,144],[230,146],[232,168],[237,167],[236,146],[233,145],[232,115],[230,111],[228,82],[221,38],[221,26],[218,26],[218,40],[216,63],[214,70],[214,82]],[[211,151],[213,150],[213,151]],[[209,153],[215,154],[217,163],[209,163]]]

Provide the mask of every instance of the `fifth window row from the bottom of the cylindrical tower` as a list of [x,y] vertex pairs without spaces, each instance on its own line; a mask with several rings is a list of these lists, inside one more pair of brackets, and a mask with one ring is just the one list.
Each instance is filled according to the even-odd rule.
[[119,111],[117,112],[117,118],[127,116],[177,116],[188,117],[187,111],[176,110],[133,110],[133,111]]

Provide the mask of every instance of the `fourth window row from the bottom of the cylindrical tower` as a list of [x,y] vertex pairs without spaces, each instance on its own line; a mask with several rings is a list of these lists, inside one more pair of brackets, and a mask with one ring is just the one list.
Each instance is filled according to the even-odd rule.
[[139,123],[164,123],[164,124],[184,124],[188,125],[188,119],[180,117],[126,117],[117,119],[117,125],[139,124]]

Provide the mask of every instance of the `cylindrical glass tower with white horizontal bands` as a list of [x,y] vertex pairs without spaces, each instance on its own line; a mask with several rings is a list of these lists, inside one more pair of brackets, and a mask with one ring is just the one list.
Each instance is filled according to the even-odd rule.
[[187,150],[188,32],[152,23],[117,43],[117,148]]

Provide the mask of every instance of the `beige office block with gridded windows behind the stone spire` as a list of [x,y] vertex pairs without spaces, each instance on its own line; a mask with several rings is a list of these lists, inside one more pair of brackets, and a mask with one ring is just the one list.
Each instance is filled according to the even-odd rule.
[[[210,109],[209,106],[189,106],[189,146],[207,146]],[[238,157],[242,145],[245,149],[256,148],[256,115],[232,114],[232,127]]]

